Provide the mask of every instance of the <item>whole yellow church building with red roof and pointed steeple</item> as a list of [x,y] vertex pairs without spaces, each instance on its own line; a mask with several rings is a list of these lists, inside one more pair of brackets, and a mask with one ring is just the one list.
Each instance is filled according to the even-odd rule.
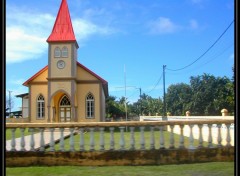
[[67,0],[47,39],[48,65],[23,83],[30,122],[105,121],[108,82],[77,61],[78,43]]

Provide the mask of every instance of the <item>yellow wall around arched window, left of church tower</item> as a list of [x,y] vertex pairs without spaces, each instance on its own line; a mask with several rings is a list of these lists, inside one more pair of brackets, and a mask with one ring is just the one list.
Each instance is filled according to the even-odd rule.
[[[46,85],[31,85],[30,87],[30,93],[31,93],[31,102],[30,102],[30,108],[31,108],[31,114],[30,114],[30,120],[33,123],[41,123],[41,122],[47,122],[48,119],[48,111],[47,111],[47,102],[48,102],[48,93],[47,93],[47,84]],[[37,98],[38,96],[42,94],[45,100],[45,117],[44,118],[37,118]]]

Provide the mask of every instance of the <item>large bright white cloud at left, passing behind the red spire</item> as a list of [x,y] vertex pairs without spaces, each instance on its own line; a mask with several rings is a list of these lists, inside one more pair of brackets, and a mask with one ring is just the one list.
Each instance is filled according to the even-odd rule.
[[[6,63],[38,59],[47,52],[46,40],[56,17],[47,13],[34,13],[21,8],[7,7],[6,14]],[[86,41],[94,34],[110,35],[111,27],[99,26],[81,18],[72,19],[76,39]]]

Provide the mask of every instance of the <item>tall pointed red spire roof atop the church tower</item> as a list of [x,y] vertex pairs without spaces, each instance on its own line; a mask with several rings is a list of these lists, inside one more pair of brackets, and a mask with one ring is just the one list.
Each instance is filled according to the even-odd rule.
[[47,42],[76,41],[67,0],[62,0],[52,33]]

